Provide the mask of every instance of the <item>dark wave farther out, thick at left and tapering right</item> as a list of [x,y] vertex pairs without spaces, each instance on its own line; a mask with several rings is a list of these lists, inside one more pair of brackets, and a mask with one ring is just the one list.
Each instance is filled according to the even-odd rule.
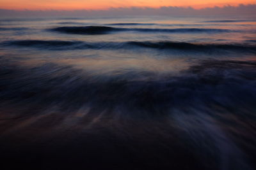
[[85,26],[85,27],[56,27],[50,31],[66,34],[108,34],[114,31],[138,31],[138,32],[168,32],[168,33],[221,33],[233,32],[229,29],[200,29],[200,28],[179,28],[179,29],[150,29],[150,28],[122,28],[106,26]]

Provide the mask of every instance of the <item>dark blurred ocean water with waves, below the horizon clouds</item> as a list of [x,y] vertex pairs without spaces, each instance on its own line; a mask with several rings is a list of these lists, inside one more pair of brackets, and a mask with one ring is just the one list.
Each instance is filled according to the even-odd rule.
[[1,18],[0,152],[1,169],[255,169],[256,19]]

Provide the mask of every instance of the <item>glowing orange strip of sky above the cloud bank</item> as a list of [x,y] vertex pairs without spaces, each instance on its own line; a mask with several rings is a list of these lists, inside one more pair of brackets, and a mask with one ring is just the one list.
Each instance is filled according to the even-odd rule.
[[225,4],[255,4],[256,0],[0,0],[0,8],[8,10],[98,10],[118,7],[192,6],[204,8]]

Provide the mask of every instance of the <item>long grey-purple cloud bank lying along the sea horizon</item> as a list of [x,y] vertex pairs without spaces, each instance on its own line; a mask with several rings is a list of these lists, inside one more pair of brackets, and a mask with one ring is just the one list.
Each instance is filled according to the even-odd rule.
[[256,15],[256,4],[215,6],[202,9],[162,6],[161,8],[109,8],[108,10],[0,10],[1,17],[92,17],[120,15]]

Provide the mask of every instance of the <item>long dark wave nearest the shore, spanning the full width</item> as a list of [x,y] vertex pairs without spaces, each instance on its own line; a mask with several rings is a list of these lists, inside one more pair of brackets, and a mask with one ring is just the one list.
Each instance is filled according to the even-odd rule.
[[154,48],[159,50],[182,50],[183,52],[241,52],[256,53],[255,45],[246,44],[209,44],[209,43],[186,43],[173,41],[125,41],[125,42],[86,42],[86,41],[58,41],[58,40],[16,40],[4,41],[3,46],[35,47],[49,50],[76,50],[76,49],[130,49]]

